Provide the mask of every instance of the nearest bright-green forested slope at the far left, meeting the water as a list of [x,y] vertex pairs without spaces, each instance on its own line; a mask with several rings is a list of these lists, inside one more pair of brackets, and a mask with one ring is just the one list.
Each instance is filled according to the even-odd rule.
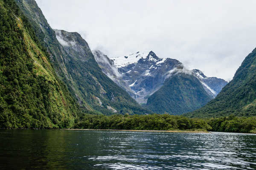
[[14,0],[0,0],[0,128],[70,127],[76,100]]

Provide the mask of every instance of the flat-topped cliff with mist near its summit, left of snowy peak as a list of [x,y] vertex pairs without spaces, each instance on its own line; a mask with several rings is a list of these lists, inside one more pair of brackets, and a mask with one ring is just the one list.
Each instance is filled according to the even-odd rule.
[[[65,65],[81,97],[91,107],[106,114],[143,113],[140,105],[102,73],[85,40],[76,32],[55,30],[63,47]],[[118,76],[118,75],[117,75]],[[83,100],[79,100],[82,105]],[[131,109],[132,108],[132,109]],[[145,111],[147,113],[147,111]]]

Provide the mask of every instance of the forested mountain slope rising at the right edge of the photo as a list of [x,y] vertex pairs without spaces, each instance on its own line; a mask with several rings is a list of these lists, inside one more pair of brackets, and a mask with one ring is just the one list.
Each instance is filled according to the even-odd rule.
[[232,81],[218,96],[190,117],[218,117],[256,115],[256,49],[242,62]]

